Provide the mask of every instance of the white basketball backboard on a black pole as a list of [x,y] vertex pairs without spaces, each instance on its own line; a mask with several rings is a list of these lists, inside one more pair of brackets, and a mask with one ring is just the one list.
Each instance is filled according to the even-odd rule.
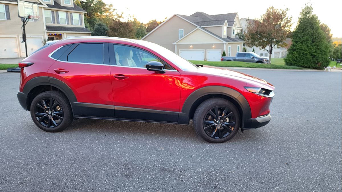
[[38,5],[18,0],[18,17],[39,20]]

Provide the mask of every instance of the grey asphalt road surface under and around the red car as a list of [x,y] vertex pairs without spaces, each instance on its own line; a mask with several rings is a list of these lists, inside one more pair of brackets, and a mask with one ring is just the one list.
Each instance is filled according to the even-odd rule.
[[211,144],[192,123],[37,128],[0,73],[0,191],[341,191],[341,73],[240,70],[276,90],[271,122]]

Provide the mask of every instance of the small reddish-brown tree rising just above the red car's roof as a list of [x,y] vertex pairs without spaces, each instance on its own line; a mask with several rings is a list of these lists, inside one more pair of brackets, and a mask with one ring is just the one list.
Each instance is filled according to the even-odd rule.
[[109,36],[135,39],[135,30],[132,22],[122,22],[120,19],[113,19],[109,25]]

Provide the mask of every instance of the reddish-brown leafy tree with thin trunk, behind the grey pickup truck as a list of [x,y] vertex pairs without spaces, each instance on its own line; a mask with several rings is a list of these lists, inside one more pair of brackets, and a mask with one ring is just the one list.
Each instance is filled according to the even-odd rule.
[[246,44],[257,46],[269,53],[269,63],[275,46],[286,46],[285,40],[290,33],[292,17],[287,16],[288,9],[267,9],[260,19],[248,20],[245,34]]

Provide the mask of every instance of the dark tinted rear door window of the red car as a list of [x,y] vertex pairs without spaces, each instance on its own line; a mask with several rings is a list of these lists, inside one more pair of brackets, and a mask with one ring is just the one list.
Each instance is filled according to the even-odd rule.
[[71,53],[69,53],[67,61],[103,64],[103,43],[79,44]]

